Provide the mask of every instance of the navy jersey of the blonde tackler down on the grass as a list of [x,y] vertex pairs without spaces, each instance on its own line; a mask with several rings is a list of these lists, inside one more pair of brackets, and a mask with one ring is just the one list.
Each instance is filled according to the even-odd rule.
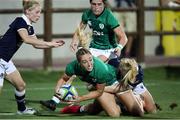
[[[114,58],[114,59],[109,60],[108,64],[118,68],[118,66],[120,64],[120,60],[118,60],[117,58]],[[138,74],[136,75],[136,81],[133,84],[129,82],[129,84],[132,87],[136,87],[136,85],[138,85],[139,83],[143,82],[143,77],[144,77],[143,69],[142,69],[142,67],[140,65],[138,65]],[[121,72],[118,71],[117,79],[121,80],[122,78],[123,78],[123,76],[121,75]]]

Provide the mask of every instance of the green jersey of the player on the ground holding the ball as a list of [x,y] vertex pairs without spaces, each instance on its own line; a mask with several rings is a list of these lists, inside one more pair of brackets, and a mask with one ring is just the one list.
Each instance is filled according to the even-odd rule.
[[111,85],[116,81],[116,68],[95,57],[93,57],[91,72],[86,71],[77,60],[74,60],[66,66],[65,73],[68,76],[76,75],[80,80],[93,85],[97,83]]

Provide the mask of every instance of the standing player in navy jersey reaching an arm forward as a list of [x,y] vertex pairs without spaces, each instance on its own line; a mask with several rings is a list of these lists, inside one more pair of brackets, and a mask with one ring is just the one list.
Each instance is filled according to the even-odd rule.
[[24,0],[23,11],[23,15],[17,17],[0,38],[0,89],[3,87],[4,78],[15,87],[17,114],[20,115],[34,114],[36,111],[25,106],[25,82],[11,61],[13,55],[23,42],[40,49],[59,47],[64,44],[62,40],[45,42],[37,39],[32,23],[36,23],[40,18],[41,7],[38,1]]

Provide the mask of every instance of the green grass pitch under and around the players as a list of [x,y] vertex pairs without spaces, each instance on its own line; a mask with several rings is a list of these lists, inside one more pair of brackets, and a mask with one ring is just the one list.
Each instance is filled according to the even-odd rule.
[[[55,112],[42,109],[39,100],[50,99],[54,93],[54,87],[62,72],[53,71],[21,71],[26,81],[26,103],[27,106],[34,107],[39,111],[37,115],[16,115],[16,101],[14,100],[13,87],[5,81],[0,95],[0,119],[110,119],[104,113],[97,116],[89,115],[64,115],[59,114],[59,109],[64,105],[60,104]],[[154,97],[161,110],[156,114],[145,114],[144,119],[180,119],[180,91],[179,76],[167,77],[165,68],[150,68],[144,70],[144,83]],[[178,74],[178,71],[177,71]],[[79,80],[73,82],[79,94],[87,92],[86,88]],[[81,104],[91,101],[82,102]],[[174,106],[174,107],[170,107]],[[139,117],[121,116],[116,119],[140,119]]]

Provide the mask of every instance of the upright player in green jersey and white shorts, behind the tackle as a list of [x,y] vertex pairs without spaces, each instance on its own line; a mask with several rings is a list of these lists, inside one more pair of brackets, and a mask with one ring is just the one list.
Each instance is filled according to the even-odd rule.
[[[119,57],[128,41],[126,34],[110,9],[106,8],[106,0],[90,0],[90,5],[91,8],[83,12],[80,23],[80,29],[84,30],[88,25],[92,30],[90,52],[104,62]],[[77,29],[70,45],[71,49],[76,51],[78,44]]]

